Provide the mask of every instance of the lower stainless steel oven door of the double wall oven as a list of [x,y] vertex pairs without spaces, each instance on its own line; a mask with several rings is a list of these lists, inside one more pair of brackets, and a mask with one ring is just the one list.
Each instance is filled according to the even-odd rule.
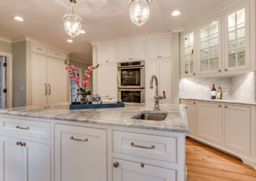
[[118,89],[118,100],[124,103],[145,103],[145,89]]

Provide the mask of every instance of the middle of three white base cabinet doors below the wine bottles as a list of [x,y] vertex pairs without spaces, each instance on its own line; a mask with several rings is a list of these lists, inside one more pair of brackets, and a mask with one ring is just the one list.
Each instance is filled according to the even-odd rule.
[[198,136],[215,143],[222,143],[222,107],[218,104],[198,103]]

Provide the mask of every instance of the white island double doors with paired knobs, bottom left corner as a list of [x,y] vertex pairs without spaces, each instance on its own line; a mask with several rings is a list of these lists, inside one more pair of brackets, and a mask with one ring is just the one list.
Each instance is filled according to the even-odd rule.
[[3,181],[50,181],[50,146],[0,137],[0,178]]

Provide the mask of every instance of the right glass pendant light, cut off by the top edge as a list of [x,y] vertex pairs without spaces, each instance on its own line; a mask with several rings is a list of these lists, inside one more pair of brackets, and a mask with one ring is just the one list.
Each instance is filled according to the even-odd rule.
[[149,6],[152,0],[130,0],[130,18],[133,24],[143,25],[149,17]]

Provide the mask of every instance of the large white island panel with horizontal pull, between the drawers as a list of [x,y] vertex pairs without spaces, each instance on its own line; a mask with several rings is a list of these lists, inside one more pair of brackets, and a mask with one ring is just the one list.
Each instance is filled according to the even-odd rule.
[[55,181],[106,181],[106,130],[56,125]]

